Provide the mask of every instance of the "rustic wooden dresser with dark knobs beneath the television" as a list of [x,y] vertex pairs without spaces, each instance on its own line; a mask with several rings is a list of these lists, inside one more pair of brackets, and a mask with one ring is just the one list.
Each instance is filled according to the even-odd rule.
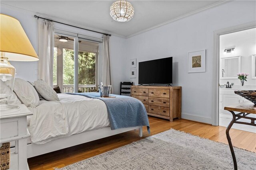
[[181,118],[180,86],[131,86],[131,92],[144,104],[148,115],[170,121]]

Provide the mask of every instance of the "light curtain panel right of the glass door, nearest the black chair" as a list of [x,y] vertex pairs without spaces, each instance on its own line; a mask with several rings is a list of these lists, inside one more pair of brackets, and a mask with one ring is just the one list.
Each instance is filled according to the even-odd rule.
[[[103,36],[103,66],[102,66],[102,83],[104,86],[112,85],[110,55],[109,55],[109,35]],[[112,90],[113,92],[113,87]]]

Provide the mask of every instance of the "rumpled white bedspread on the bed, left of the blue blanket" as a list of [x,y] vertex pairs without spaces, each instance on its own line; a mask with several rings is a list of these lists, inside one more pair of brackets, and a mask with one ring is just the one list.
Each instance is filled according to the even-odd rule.
[[33,113],[29,126],[32,143],[43,144],[110,126],[103,101],[70,94],[58,97],[60,102],[42,100],[38,107],[28,107]]

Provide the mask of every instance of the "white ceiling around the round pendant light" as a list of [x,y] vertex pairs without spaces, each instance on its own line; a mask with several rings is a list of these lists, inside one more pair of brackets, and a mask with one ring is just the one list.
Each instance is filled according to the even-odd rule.
[[[1,4],[45,14],[83,26],[130,37],[167,21],[215,6],[217,0],[128,0],[134,6],[134,17],[117,22],[110,17],[113,0],[1,0]],[[38,15],[40,16],[40,15]]]

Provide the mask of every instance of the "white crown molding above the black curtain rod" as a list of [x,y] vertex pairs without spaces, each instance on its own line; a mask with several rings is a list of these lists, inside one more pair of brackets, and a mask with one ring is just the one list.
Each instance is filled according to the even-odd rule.
[[95,28],[95,27],[90,27],[88,25],[83,25],[83,24],[68,21],[68,20],[63,20],[63,19],[60,19],[60,18],[56,18],[56,17],[53,17],[53,16],[46,15],[46,14],[41,14],[41,13],[38,13],[38,12],[35,13],[35,12],[29,11],[29,10],[24,10],[22,8],[17,8],[17,7],[5,5],[5,4],[1,4],[1,8],[2,7],[6,8],[6,9],[10,9],[10,10],[15,10],[15,11],[18,11],[18,12],[23,12],[23,13],[26,13],[26,14],[30,14],[32,16],[34,16],[36,14],[37,16],[40,16],[42,18],[47,18],[49,20],[55,20],[55,21],[58,21],[58,22],[69,24],[69,25],[74,25],[76,27],[81,27],[81,28],[84,28],[84,29],[91,29],[93,31],[98,31],[98,32],[101,32],[101,33],[106,33],[106,34],[111,34],[111,35],[115,35],[115,36],[118,36],[118,37],[126,38],[126,36],[124,36],[124,35],[112,33],[112,32],[109,32],[109,31],[104,31],[102,29],[98,29],[98,28]]

